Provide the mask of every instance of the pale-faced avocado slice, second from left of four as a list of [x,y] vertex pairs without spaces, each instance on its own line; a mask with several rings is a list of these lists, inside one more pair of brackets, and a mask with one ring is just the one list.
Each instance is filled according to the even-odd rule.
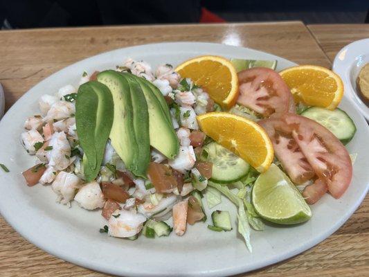
[[102,71],[98,82],[105,84],[114,100],[114,120],[110,132],[111,145],[124,161],[128,170],[138,170],[138,144],[134,132],[134,109],[129,83],[126,78],[114,71]]

